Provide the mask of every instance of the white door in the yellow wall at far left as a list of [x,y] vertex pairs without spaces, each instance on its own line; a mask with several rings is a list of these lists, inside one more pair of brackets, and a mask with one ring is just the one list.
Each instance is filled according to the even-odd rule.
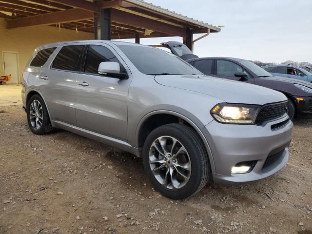
[[2,52],[3,53],[3,68],[4,76],[11,75],[11,81],[8,84],[20,83],[18,53],[17,52]]

